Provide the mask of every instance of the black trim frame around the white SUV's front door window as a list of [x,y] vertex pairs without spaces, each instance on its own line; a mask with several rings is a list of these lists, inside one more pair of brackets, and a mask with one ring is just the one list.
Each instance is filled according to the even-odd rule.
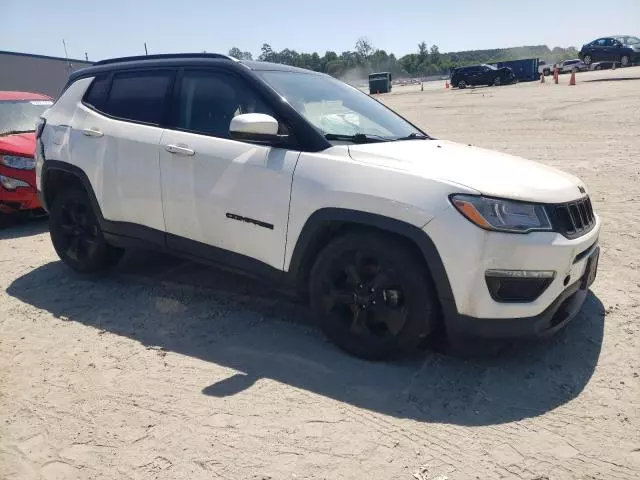
[[[204,133],[204,132],[198,132],[195,130],[191,130],[188,128],[180,128],[177,126],[178,124],[178,114],[179,114],[179,110],[180,110],[180,89],[182,88],[182,79],[184,77],[184,73],[185,71],[189,71],[189,72],[216,72],[216,73],[220,73],[222,75],[227,75],[230,77],[235,77],[237,78],[240,82],[243,82],[244,85],[251,89],[251,91],[258,97],[259,100],[261,100],[269,109],[271,109],[271,111],[274,113],[274,118],[278,121],[278,123],[283,124],[288,132],[289,132],[289,141],[285,142],[285,143],[277,143],[277,144],[273,144],[273,145],[269,145],[266,143],[260,143],[259,145],[262,146],[266,146],[266,147],[274,147],[274,148],[283,148],[283,149],[289,149],[289,150],[302,150],[300,142],[297,140],[297,136],[296,136],[296,131],[293,128],[293,126],[291,125],[290,122],[286,121],[285,119],[282,118],[282,115],[280,114],[280,112],[278,111],[278,108],[276,108],[273,105],[273,102],[270,101],[269,98],[267,98],[266,95],[264,95],[263,92],[260,91],[259,88],[256,88],[256,82],[254,79],[254,81],[249,80],[246,76],[244,75],[239,75],[236,71],[231,70],[229,68],[225,68],[224,65],[185,65],[179,68],[177,75],[174,78],[174,83],[173,83],[173,88],[171,91],[171,98],[169,99],[168,105],[167,105],[167,115],[165,118],[165,128],[167,130],[172,130],[175,132],[184,132],[184,133],[190,133],[193,135],[201,135],[203,137],[210,137],[210,138],[217,138],[220,140],[228,140],[231,142],[239,142],[239,143],[244,143],[244,144],[250,144],[250,145],[256,145],[253,142],[249,142],[249,141],[244,141],[244,140],[238,140],[238,139],[233,139],[233,138],[228,138],[228,137],[221,137],[219,135],[213,135],[210,133]],[[257,82],[259,83],[259,82]]]

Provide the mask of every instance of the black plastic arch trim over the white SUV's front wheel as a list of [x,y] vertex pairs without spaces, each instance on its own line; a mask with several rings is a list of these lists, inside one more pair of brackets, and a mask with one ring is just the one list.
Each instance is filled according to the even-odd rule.
[[287,283],[306,295],[309,272],[318,253],[334,238],[353,230],[373,230],[403,241],[424,263],[436,288],[445,318],[457,313],[449,278],[438,250],[419,227],[384,215],[343,208],[323,208],[304,224],[286,273]]

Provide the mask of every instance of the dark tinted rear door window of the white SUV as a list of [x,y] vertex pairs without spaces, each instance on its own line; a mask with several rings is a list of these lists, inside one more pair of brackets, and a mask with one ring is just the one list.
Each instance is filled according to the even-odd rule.
[[170,70],[117,73],[101,110],[125,120],[160,124],[173,75]]

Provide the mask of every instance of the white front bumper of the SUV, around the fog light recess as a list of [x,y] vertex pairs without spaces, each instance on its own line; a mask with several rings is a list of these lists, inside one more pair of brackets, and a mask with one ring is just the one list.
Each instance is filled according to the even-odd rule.
[[[447,324],[458,317],[523,323],[546,318],[556,302],[556,306],[562,303],[558,299],[566,292],[580,290],[590,253],[597,248],[600,224],[596,216],[588,233],[569,239],[555,232],[490,232],[473,225],[453,207],[441,212],[423,230],[444,269],[444,280],[434,281],[450,286],[450,298],[440,294],[448,289],[439,289]],[[534,300],[505,302],[491,296],[485,277],[488,270],[553,271],[555,276]]]

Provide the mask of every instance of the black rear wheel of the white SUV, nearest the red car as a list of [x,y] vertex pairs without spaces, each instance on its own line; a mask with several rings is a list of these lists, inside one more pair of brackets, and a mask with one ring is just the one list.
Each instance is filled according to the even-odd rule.
[[60,192],[49,212],[51,242],[60,259],[79,273],[99,273],[115,266],[123,249],[109,245],[84,190]]

